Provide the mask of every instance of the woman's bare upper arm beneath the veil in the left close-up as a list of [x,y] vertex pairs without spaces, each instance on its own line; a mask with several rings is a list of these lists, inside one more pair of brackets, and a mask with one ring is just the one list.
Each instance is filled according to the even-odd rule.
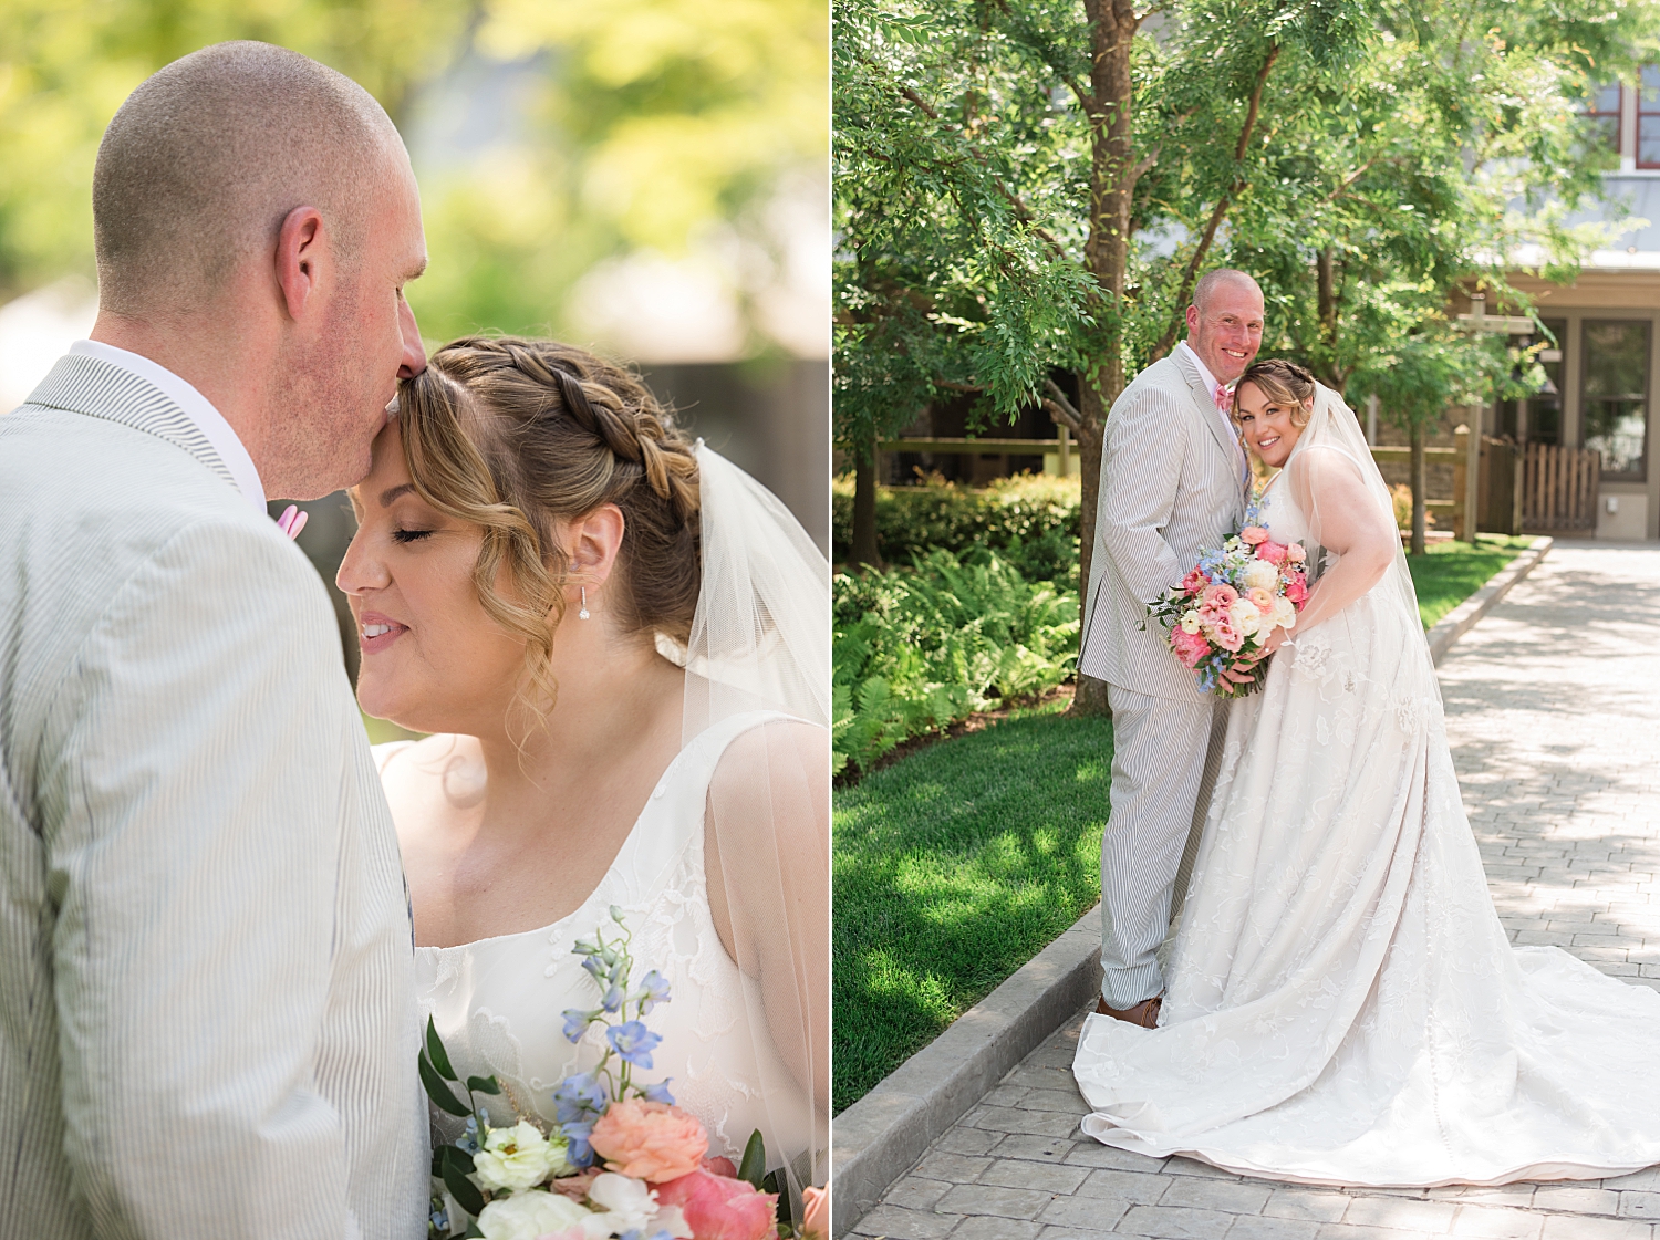
[[830,734],[780,720],[734,740],[709,784],[709,910],[760,988],[767,1034],[830,1104]]

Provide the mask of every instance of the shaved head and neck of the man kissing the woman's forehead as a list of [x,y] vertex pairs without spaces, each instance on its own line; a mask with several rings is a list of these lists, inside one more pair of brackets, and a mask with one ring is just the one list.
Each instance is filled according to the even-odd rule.
[[173,61],[105,133],[93,224],[100,317],[217,385],[267,493],[367,473],[397,380],[425,365],[403,284],[427,244],[403,143],[362,86],[269,43]]

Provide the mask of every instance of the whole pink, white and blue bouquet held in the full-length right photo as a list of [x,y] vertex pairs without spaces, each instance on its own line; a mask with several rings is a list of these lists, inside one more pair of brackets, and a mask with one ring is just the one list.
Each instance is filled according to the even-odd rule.
[[1245,672],[1250,679],[1242,684],[1223,672],[1250,661],[1277,627],[1296,624],[1308,599],[1306,551],[1300,543],[1275,543],[1255,518],[1253,505],[1243,530],[1218,551],[1200,556],[1180,586],[1147,606],[1147,616],[1170,631],[1170,649],[1207,694],[1245,697],[1262,689],[1267,659],[1252,662]]

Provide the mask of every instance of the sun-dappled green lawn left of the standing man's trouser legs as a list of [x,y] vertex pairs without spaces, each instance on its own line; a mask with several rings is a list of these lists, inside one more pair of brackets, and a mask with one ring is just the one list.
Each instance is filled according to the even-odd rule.
[[1101,898],[1112,724],[1033,714],[835,792],[835,1096],[857,1102]]

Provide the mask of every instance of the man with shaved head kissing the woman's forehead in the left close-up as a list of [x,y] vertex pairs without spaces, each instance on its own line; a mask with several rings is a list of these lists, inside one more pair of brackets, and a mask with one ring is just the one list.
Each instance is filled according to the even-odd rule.
[[264,43],[144,81],[98,320],[0,417],[0,1237],[415,1240],[397,837],[304,554],[427,261],[355,83]]

